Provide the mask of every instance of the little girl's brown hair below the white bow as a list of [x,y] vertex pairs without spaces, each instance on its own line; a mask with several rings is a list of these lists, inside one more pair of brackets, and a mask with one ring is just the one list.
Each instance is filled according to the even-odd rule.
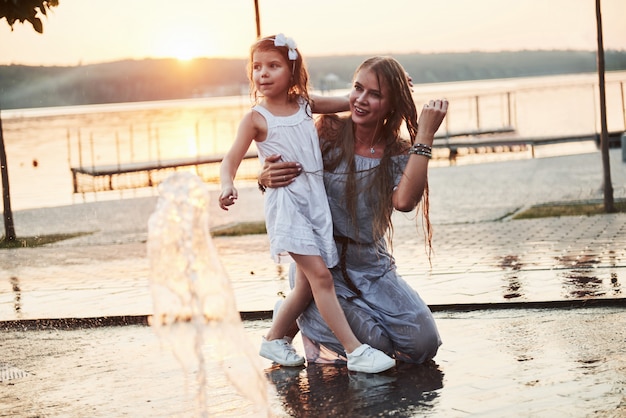
[[257,91],[252,78],[252,61],[254,59],[254,53],[276,51],[283,57],[287,66],[291,68],[291,84],[287,93],[289,100],[295,101],[298,98],[302,98],[307,104],[309,104],[311,101],[309,98],[309,73],[306,69],[306,65],[304,64],[302,54],[296,48],[298,57],[293,61],[290,60],[288,55],[289,48],[287,46],[274,45],[275,39],[276,36],[261,38],[250,47],[250,59],[248,60],[248,81],[250,82],[250,96],[252,96],[252,100],[254,103],[258,103],[259,101],[259,92]]

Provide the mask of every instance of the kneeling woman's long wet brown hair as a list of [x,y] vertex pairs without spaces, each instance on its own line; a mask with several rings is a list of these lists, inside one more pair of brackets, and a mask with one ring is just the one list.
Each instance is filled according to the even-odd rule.
[[[393,225],[391,215],[393,213],[392,195],[395,183],[394,161],[391,157],[406,153],[415,142],[417,136],[417,109],[411,95],[406,71],[398,61],[391,57],[372,57],[364,61],[355,71],[355,75],[361,70],[372,71],[380,86],[388,87],[391,110],[387,117],[380,121],[380,140],[385,144],[385,152],[380,165],[369,175],[373,180],[369,183],[369,190],[357,190],[356,165],[354,160],[354,126],[350,116],[322,116],[318,121],[320,138],[323,139],[322,152],[324,154],[325,170],[337,169],[343,161],[346,164],[346,206],[353,220],[356,222],[356,200],[360,193],[370,193],[375,196],[372,201],[375,217],[373,219],[374,239],[383,236],[388,238],[391,245]],[[405,123],[410,141],[401,137],[402,122]],[[428,179],[424,187],[424,193],[420,200],[422,212],[422,227],[428,247],[428,256],[432,252],[432,225],[429,217]],[[420,208],[418,207],[418,210]]]

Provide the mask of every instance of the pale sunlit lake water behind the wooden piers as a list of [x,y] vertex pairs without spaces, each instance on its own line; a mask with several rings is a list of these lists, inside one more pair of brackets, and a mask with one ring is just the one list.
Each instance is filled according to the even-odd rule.
[[[606,82],[608,129],[623,131],[626,71],[607,73]],[[600,131],[594,73],[414,90],[418,109],[431,98],[450,101],[439,135],[507,126],[522,138]],[[250,105],[249,97],[241,96],[2,111],[12,209],[156,194],[150,188],[74,194],[70,167],[223,154]]]

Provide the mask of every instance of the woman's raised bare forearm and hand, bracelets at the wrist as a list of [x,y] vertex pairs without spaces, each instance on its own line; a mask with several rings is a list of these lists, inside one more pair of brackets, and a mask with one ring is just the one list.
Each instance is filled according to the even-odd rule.
[[[431,100],[424,105],[417,128],[416,144],[432,147],[435,133],[448,111],[447,100]],[[428,157],[411,154],[404,173],[393,194],[393,207],[402,212],[410,212],[422,198],[428,176]]]

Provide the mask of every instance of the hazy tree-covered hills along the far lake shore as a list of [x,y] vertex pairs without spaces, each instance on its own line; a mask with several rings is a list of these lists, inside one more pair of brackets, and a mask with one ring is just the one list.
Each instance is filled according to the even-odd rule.
[[[626,51],[606,51],[606,71],[626,70]],[[396,54],[415,84],[587,73],[595,51]],[[349,86],[366,55],[310,57],[317,89]],[[124,60],[76,66],[0,66],[0,108],[71,106],[247,94],[245,59]]]

